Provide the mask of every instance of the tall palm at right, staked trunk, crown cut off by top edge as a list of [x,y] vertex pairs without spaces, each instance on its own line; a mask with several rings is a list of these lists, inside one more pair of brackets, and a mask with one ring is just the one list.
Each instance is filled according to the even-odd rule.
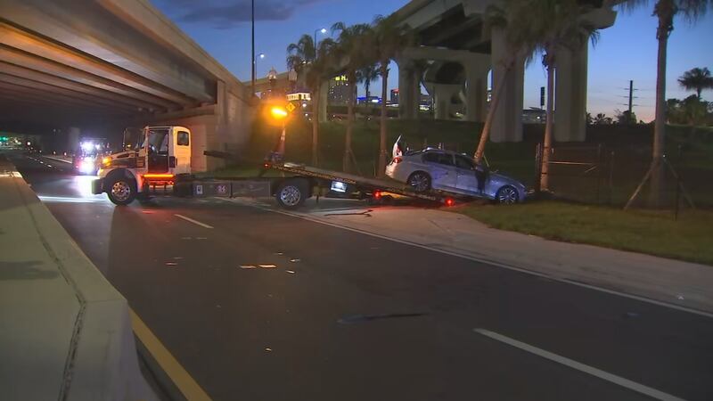
[[[698,20],[699,17],[706,13],[711,3],[713,3],[711,0],[656,0],[653,6],[653,15],[659,18],[659,26],[656,28],[659,54],[656,71],[656,117],[653,125],[652,166],[647,176],[652,176],[651,201],[654,207],[660,204],[664,173],[663,150],[664,137],[666,135],[666,54],[668,52],[668,37],[671,35],[671,31],[674,30],[674,17],[676,15],[681,14],[689,21]],[[628,0],[622,5],[631,10],[646,4],[649,4],[648,0]]]

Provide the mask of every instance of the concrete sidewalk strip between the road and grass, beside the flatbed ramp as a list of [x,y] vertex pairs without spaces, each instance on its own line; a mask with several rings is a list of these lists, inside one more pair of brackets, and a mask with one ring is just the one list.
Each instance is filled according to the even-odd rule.
[[[311,201],[294,214],[563,281],[713,313],[713,266],[496,230],[441,209],[379,207],[371,209],[368,216],[355,214],[369,210],[363,207],[320,210],[330,208],[330,202],[321,200],[315,207]],[[332,201],[333,208],[339,205],[348,203]]]

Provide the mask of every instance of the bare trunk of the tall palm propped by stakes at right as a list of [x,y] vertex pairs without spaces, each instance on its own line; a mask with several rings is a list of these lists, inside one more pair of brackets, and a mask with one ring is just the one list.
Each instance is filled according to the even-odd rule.
[[659,16],[659,60],[656,69],[656,119],[653,124],[653,152],[652,152],[652,183],[650,186],[649,202],[653,208],[659,208],[661,191],[663,190],[664,165],[663,151],[666,135],[666,53],[668,47],[668,18]]

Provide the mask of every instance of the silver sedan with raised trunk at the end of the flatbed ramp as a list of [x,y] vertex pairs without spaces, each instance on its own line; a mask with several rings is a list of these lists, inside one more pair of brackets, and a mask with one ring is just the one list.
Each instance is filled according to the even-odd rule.
[[416,192],[453,192],[506,204],[524,201],[526,194],[519,181],[490,173],[455,151],[427,148],[401,154],[395,150],[386,175],[409,184]]

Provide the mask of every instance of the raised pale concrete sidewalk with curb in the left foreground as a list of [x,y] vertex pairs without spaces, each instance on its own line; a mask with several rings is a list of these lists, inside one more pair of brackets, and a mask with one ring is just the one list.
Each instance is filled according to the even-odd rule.
[[156,399],[126,299],[2,154],[0,313],[2,399]]

